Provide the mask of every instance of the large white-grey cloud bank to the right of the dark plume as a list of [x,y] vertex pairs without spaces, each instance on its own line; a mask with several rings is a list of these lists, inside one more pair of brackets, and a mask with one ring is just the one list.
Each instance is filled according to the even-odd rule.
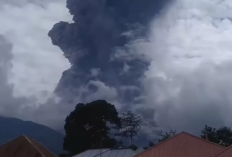
[[177,0],[151,25],[149,42],[135,41],[145,54],[146,105],[160,125],[198,131],[232,125],[232,3]]

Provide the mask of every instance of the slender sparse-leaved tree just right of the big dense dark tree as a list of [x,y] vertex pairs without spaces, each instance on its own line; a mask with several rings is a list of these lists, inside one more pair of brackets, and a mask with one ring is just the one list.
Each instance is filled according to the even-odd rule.
[[127,111],[122,114],[121,118],[121,132],[120,135],[130,140],[132,145],[133,138],[139,134],[141,129],[142,119],[139,115]]

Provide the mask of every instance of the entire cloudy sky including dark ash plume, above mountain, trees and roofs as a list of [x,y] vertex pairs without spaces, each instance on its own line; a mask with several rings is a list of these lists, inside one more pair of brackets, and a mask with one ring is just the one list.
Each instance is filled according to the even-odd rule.
[[162,129],[232,126],[232,3],[166,3],[131,18],[116,1],[76,0],[70,15],[63,0],[0,0],[0,114],[58,129],[78,102],[106,99]]

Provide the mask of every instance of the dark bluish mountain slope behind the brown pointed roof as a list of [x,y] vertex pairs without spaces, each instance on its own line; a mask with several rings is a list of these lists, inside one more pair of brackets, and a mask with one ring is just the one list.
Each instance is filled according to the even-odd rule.
[[62,152],[64,136],[61,133],[30,121],[0,117],[0,145],[22,134],[42,143],[55,154]]

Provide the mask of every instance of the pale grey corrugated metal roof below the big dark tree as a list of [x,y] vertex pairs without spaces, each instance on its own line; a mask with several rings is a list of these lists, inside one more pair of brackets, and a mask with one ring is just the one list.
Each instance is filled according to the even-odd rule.
[[[101,154],[101,155],[100,155]],[[131,149],[90,149],[73,157],[133,157],[135,151]]]

